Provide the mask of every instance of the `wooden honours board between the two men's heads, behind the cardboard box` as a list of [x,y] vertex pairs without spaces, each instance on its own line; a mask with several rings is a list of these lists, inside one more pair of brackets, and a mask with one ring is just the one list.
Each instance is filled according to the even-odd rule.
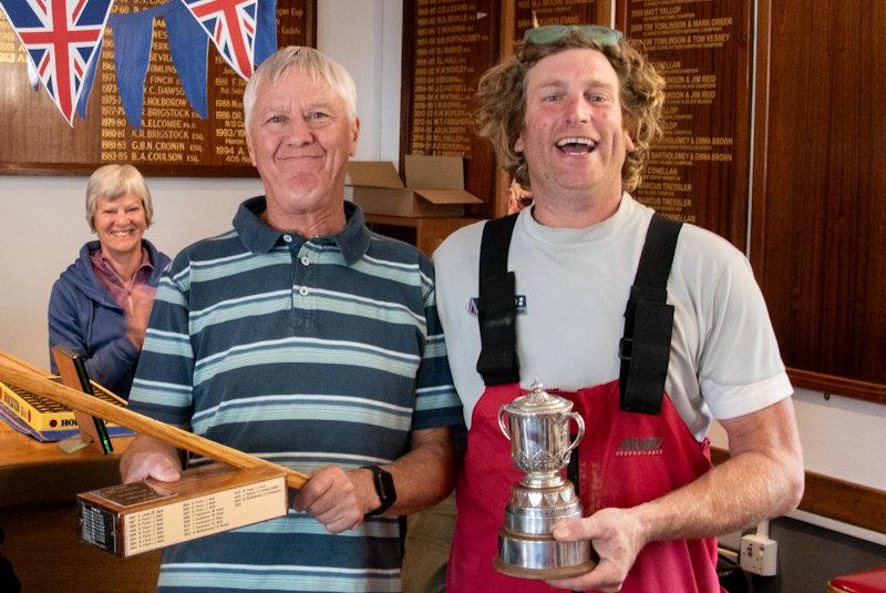
[[401,167],[406,154],[462,156],[465,188],[486,201],[470,214],[490,216],[495,157],[475,133],[480,76],[498,61],[499,1],[418,0],[403,10]]

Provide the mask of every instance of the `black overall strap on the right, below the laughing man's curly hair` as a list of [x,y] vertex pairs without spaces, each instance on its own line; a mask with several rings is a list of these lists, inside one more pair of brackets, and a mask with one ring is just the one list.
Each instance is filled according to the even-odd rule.
[[668,276],[681,226],[658,214],[649,223],[619,345],[625,411],[656,415],[661,409],[673,331],[673,307],[667,303]]

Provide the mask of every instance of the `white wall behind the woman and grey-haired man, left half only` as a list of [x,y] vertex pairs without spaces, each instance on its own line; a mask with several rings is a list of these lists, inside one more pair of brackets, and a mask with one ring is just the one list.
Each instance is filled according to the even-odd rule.
[[[398,162],[401,14],[394,0],[318,2],[318,47],[344,64],[357,83],[360,160]],[[86,178],[0,175],[0,349],[41,367],[49,365],[50,288],[92,238],[84,219]],[[152,177],[147,183],[155,224],[145,237],[171,257],[229,228],[237,205],[262,193],[258,178]]]

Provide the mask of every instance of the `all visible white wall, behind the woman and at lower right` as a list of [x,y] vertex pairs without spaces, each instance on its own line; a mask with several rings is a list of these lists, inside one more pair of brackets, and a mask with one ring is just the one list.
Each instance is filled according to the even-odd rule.
[[[357,159],[398,162],[401,21],[398,0],[318,2],[318,45],[357,81],[362,121]],[[85,183],[85,177],[0,176],[0,349],[43,367],[50,287],[91,237],[83,219]],[[258,180],[150,178],[148,184],[156,224],[146,236],[169,255],[228,228],[236,205],[261,193]],[[806,390],[797,391],[795,405],[810,470],[886,490],[885,406],[841,397],[825,401]],[[727,446],[721,429],[711,437]]]

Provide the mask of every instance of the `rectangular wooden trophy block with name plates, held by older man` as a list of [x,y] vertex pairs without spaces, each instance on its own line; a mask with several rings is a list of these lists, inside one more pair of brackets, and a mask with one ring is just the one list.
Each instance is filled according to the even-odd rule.
[[284,472],[210,463],[177,482],[147,479],[76,495],[80,539],[131,556],[287,513]]

